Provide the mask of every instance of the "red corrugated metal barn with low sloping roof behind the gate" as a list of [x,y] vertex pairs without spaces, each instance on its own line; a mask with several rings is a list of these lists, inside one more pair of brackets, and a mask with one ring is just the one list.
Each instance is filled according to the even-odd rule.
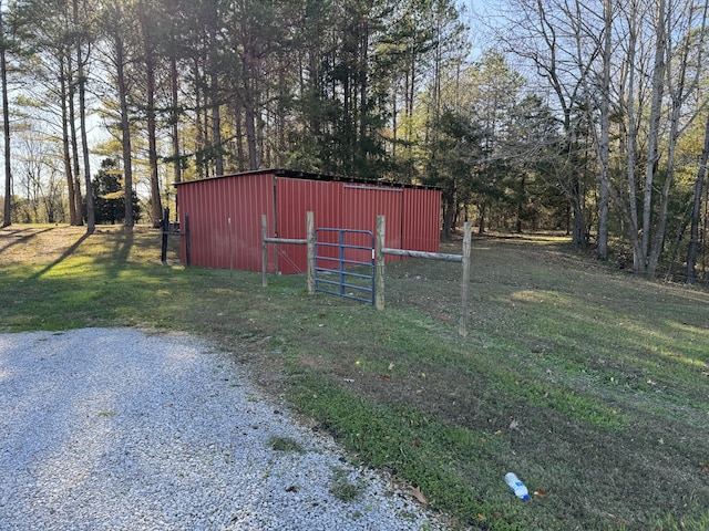
[[[191,262],[207,268],[261,270],[261,215],[268,237],[306,238],[315,228],[369,230],[387,218],[386,246],[439,252],[441,191],[284,169],[264,169],[177,185],[179,222],[189,217]],[[186,260],[183,238],[182,260]],[[358,243],[359,244],[359,243]],[[387,257],[395,259],[395,257]],[[269,244],[268,271],[307,270],[305,246]]]

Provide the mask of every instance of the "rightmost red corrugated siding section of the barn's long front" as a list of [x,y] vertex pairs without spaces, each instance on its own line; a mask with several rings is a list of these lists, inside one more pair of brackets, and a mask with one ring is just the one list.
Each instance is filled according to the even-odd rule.
[[404,188],[401,248],[440,252],[441,190]]

